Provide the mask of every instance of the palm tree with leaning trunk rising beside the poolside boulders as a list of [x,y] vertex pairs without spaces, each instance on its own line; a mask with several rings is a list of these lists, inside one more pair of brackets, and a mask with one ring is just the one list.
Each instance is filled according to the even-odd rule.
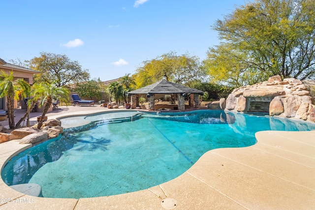
[[69,101],[69,90],[64,87],[57,87],[55,83],[35,83],[32,88],[31,95],[34,96],[33,100],[38,99],[39,106],[44,106],[43,113],[37,124],[37,129],[43,125],[44,117],[52,105],[53,98],[59,97]]

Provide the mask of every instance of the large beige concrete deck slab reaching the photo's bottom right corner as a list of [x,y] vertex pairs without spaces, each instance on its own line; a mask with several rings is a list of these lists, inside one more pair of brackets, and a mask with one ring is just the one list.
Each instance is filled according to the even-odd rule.
[[[239,150],[239,148],[222,150]],[[243,155],[244,151],[239,151],[238,155]],[[226,158],[212,151],[207,152],[188,170],[188,173],[247,209],[314,207],[314,190],[233,161],[233,157],[235,154]],[[264,161],[264,157],[261,157],[261,161]]]

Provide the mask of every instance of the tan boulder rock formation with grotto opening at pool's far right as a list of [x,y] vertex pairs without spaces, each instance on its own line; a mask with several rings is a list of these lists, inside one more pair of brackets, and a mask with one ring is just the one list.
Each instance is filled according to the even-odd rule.
[[[216,109],[235,112],[262,112],[271,116],[292,117],[315,122],[315,105],[310,92],[295,78],[272,76],[268,81],[236,88]],[[213,103],[211,103],[213,104]],[[221,107],[222,104],[222,107]],[[211,108],[213,105],[208,105]]]

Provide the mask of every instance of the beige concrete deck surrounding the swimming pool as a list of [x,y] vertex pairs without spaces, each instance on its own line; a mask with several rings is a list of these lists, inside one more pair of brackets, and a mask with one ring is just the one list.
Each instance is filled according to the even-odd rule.
[[[71,114],[104,110],[85,109]],[[255,145],[210,150],[183,175],[133,193],[82,199],[39,198],[17,192],[0,179],[0,209],[314,209],[315,131],[263,131],[255,136]],[[1,170],[7,159],[31,147],[18,142],[0,144]]]

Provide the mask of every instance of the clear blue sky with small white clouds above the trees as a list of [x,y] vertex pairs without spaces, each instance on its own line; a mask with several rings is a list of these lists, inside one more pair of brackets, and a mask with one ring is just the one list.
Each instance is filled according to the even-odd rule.
[[211,25],[245,0],[5,0],[0,58],[65,54],[103,81],[170,51],[206,58]]

